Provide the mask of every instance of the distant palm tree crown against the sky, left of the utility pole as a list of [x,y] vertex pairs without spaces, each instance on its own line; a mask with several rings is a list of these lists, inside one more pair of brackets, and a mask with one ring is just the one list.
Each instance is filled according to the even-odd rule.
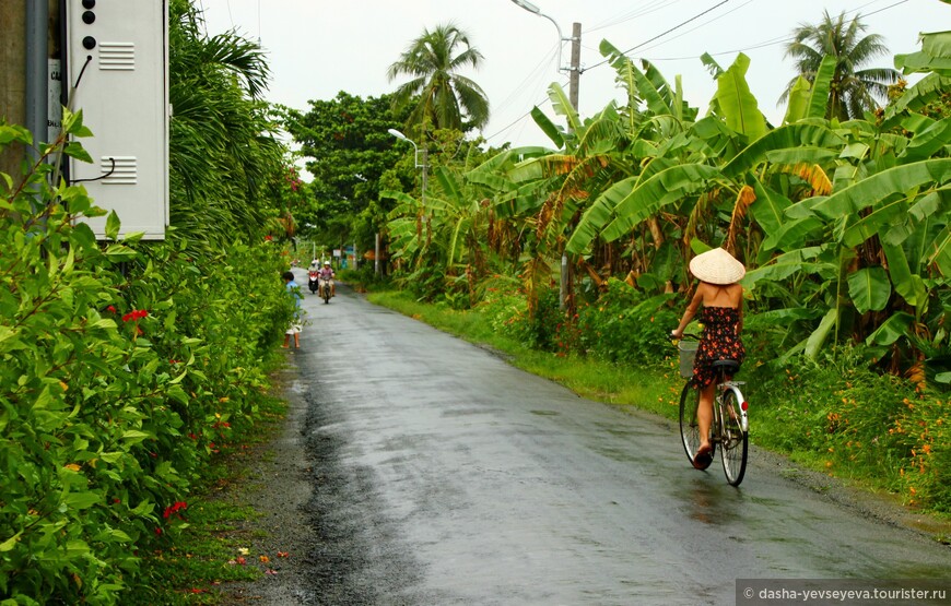
[[[460,45],[465,50],[455,55]],[[469,36],[454,24],[424,29],[387,70],[390,82],[401,74],[412,76],[394,93],[394,108],[415,104],[407,128],[467,131],[484,127],[489,98],[481,86],[457,72],[467,64],[478,68],[481,60],[482,54],[469,44]]]

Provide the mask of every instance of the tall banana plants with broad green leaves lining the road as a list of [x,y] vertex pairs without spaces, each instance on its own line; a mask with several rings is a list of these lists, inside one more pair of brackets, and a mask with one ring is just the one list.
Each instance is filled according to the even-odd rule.
[[772,128],[740,55],[728,69],[707,59],[719,90],[697,119],[679,83],[646,62],[642,71],[607,41],[601,48],[627,105],[612,102],[583,121],[552,85],[566,128],[538,111],[536,119],[560,148],[508,150],[456,167],[425,202],[400,194],[390,222],[396,254],[420,261],[436,252],[437,262],[421,264],[447,265],[447,292],[465,272],[476,295],[501,268],[470,261],[479,251],[517,259],[531,310],[562,254],[572,260],[577,308],[596,301],[611,276],[642,298],[685,292],[691,254],[723,246],[749,269],[751,322],[774,333],[778,364],[861,343],[881,368],[923,389],[951,383],[951,122],[914,110],[928,91],[909,88],[874,122],[826,120],[835,68],[827,58]]

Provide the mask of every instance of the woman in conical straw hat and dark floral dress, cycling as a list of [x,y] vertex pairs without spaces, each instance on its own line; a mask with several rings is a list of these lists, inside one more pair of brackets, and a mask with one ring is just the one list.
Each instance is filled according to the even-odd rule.
[[745,275],[747,270],[729,252],[715,248],[694,257],[690,262],[690,273],[701,282],[683,312],[680,325],[671,332],[671,336],[681,338],[683,329],[703,305],[700,317],[704,326],[703,336],[694,358],[692,379],[694,387],[701,390],[696,413],[701,443],[694,456],[694,465],[702,465],[708,464],[713,452],[709,442],[716,388],[713,363],[723,359],[742,363],[745,357],[743,342],[740,340],[743,328],[743,287],[737,282]]

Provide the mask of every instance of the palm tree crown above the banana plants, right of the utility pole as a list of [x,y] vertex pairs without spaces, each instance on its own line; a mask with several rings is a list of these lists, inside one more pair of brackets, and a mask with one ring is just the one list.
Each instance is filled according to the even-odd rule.
[[[859,68],[868,61],[888,55],[889,49],[878,34],[862,36],[866,25],[856,15],[846,21],[845,13],[837,17],[823,13],[822,22],[817,25],[802,23],[792,32],[792,41],[786,47],[786,57],[796,61],[798,74],[812,82],[822,58],[836,57],[835,75],[829,93],[826,118],[848,120],[861,118],[862,112],[878,107],[877,99],[888,99],[890,84],[899,81],[899,72],[890,68]],[[799,75],[779,97],[785,103]]]

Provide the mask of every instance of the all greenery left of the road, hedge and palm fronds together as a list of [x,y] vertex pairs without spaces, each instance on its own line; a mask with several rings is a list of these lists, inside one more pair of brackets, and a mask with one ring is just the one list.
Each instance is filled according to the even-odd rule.
[[292,312],[280,283],[293,192],[257,96],[259,49],[207,38],[169,5],[172,226],[164,242],[108,241],[104,214],[61,181],[90,162],[81,109],[51,144],[0,123],[0,152],[39,162],[0,175],[0,601],[113,604],[148,595],[140,558],[168,545],[209,458],[257,416]]

